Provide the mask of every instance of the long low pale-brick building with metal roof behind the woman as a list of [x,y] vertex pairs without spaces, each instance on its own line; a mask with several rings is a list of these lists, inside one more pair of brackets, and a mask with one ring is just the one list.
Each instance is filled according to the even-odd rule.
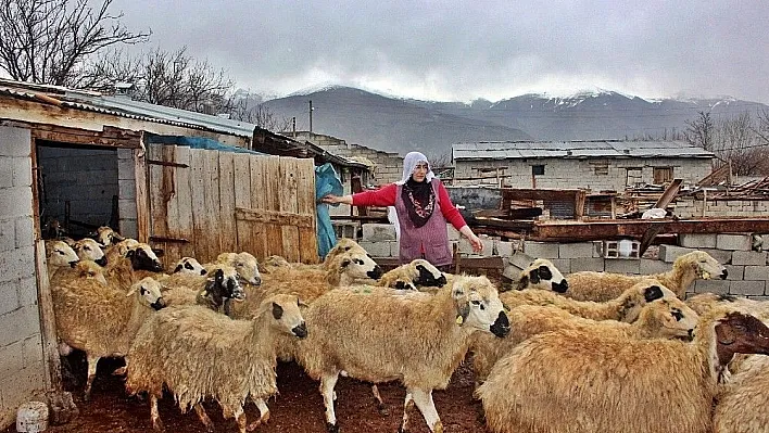
[[713,152],[682,141],[483,141],[452,147],[453,184],[622,191],[673,178],[696,183]]

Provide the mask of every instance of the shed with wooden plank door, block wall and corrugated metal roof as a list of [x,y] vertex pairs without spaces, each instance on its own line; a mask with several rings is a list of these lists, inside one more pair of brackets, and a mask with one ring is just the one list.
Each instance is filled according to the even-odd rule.
[[326,162],[362,166],[248,123],[0,79],[0,429],[24,402],[64,398],[47,221],[75,238],[109,224],[166,267],[224,251],[316,263]]

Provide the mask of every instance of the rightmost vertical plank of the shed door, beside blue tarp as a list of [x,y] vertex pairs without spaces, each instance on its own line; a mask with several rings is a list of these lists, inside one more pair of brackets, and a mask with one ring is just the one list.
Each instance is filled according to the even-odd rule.
[[315,264],[318,257],[317,207],[315,204],[315,163],[297,162],[297,205],[300,215],[312,215],[312,227],[299,227],[299,256],[302,263]]

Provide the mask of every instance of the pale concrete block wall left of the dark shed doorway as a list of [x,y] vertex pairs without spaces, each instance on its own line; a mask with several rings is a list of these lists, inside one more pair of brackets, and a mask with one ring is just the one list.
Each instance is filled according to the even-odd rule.
[[28,130],[0,127],[0,429],[45,389],[30,149]]

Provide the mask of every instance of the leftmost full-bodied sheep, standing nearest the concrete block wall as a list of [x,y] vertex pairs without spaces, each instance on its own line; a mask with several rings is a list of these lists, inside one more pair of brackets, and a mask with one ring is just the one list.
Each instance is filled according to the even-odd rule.
[[65,284],[51,293],[59,338],[86,353],[86,399],[99,359],[124,356],[143,321],[165,306],[161,285],[151,278],[135,283],[127,294],[92,280]]

